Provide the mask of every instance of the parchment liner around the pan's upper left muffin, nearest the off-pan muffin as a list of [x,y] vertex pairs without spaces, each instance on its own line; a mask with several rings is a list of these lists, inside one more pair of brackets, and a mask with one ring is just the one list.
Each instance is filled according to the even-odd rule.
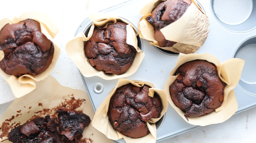
[[[75,63],[76,67],[83,74],[83,76],[85,77],[99,76],[105,80],[112,80],[112,79],[127,77],[135,73],[138,70],[140,63],[142,62],[145,56],[145,54],[142,53],[142,51],[138,47],[138,44],[137,44],[138,40],[136,37],[138,33],[136,29],[127,20],[117,16],[105,14],[105,13],[99,13],[99,12],[92,13],[90,14],[89,18],[93,21],[93,24],[88,33],[88,37],[86,37],[83,32],[80,32],[79,34],[77,34],[77,36],[73,40],[70,40],[66,45],[66,51],[69,57]],[[95,26],[103,28],[103,27],[107,27],[107,24],[116,23],[117,21],[122,21],[128,24],[126,26],[126,31],[127,31],[126,42],[127,44],[134,46],[137,53],[132,65],[126,72],[124,72],[123,74],[106,74],[104,71],[98,71],[91,66],[89,62],[89,58],[85,55],[85,52],[84,52],[84,44],[91,38]]]

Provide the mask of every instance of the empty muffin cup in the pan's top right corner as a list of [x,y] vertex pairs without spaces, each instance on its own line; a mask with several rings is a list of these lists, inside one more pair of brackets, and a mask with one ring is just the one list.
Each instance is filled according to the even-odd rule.
[[242,33],[255,29],[255,0],[211,0],[210,5],[214,18],[228,31]]

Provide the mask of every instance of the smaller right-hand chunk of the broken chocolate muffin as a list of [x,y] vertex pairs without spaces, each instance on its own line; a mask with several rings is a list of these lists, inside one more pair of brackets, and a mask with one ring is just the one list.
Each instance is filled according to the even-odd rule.
[[78,143],[84,128],[91,122],[90,117],[65,108],[59,108],[56,113],[59,119],[59,131],[64,135],[64,142]]

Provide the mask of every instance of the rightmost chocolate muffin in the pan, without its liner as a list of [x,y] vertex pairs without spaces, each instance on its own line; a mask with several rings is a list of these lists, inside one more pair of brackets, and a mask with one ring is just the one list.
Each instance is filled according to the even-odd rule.
[[181,65],[179,76],[170,86],[171,99],[187,117],[199,117],[221,106],[225,83],[214,64],[191,61]]

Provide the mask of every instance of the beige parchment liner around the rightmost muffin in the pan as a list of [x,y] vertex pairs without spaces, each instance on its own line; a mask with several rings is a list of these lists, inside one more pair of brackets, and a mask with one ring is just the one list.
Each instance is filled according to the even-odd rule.
[[[178,68],[182,64],[189,61],[193,61],[193,60],[206,60],[210,63],[215,64],[215,66],[217,67],[218,75],[221,78],[221,80],[226,83],[226,86],[224,88],[224,100],[222,105],[219,108],[215,109],[215,111],[213,111],[210,114],[206,114],[205,116],[188,118],[187,120],[184,116],[185,113],[173,103],[171,99],[169,87],[178,77],[178,75],[174,76],[176,75]],[[236,101],[233,88],[235,88],[239,82],[244,63],[245,61],[239,58],[231,58],[227,61],[220,63],[218,58],[208,53],[206,54],[180,53],[177,63],[174,69],[170,72],[170,77],[167,79],[164,86],[164,91],[166,92],[167,100],[172,105],[172,107],[178,112],[178,114],[186,122],[190,124],[206,126],[210,124],[224,122],[225,120],[229,119],[237,111],[238,104]]]

